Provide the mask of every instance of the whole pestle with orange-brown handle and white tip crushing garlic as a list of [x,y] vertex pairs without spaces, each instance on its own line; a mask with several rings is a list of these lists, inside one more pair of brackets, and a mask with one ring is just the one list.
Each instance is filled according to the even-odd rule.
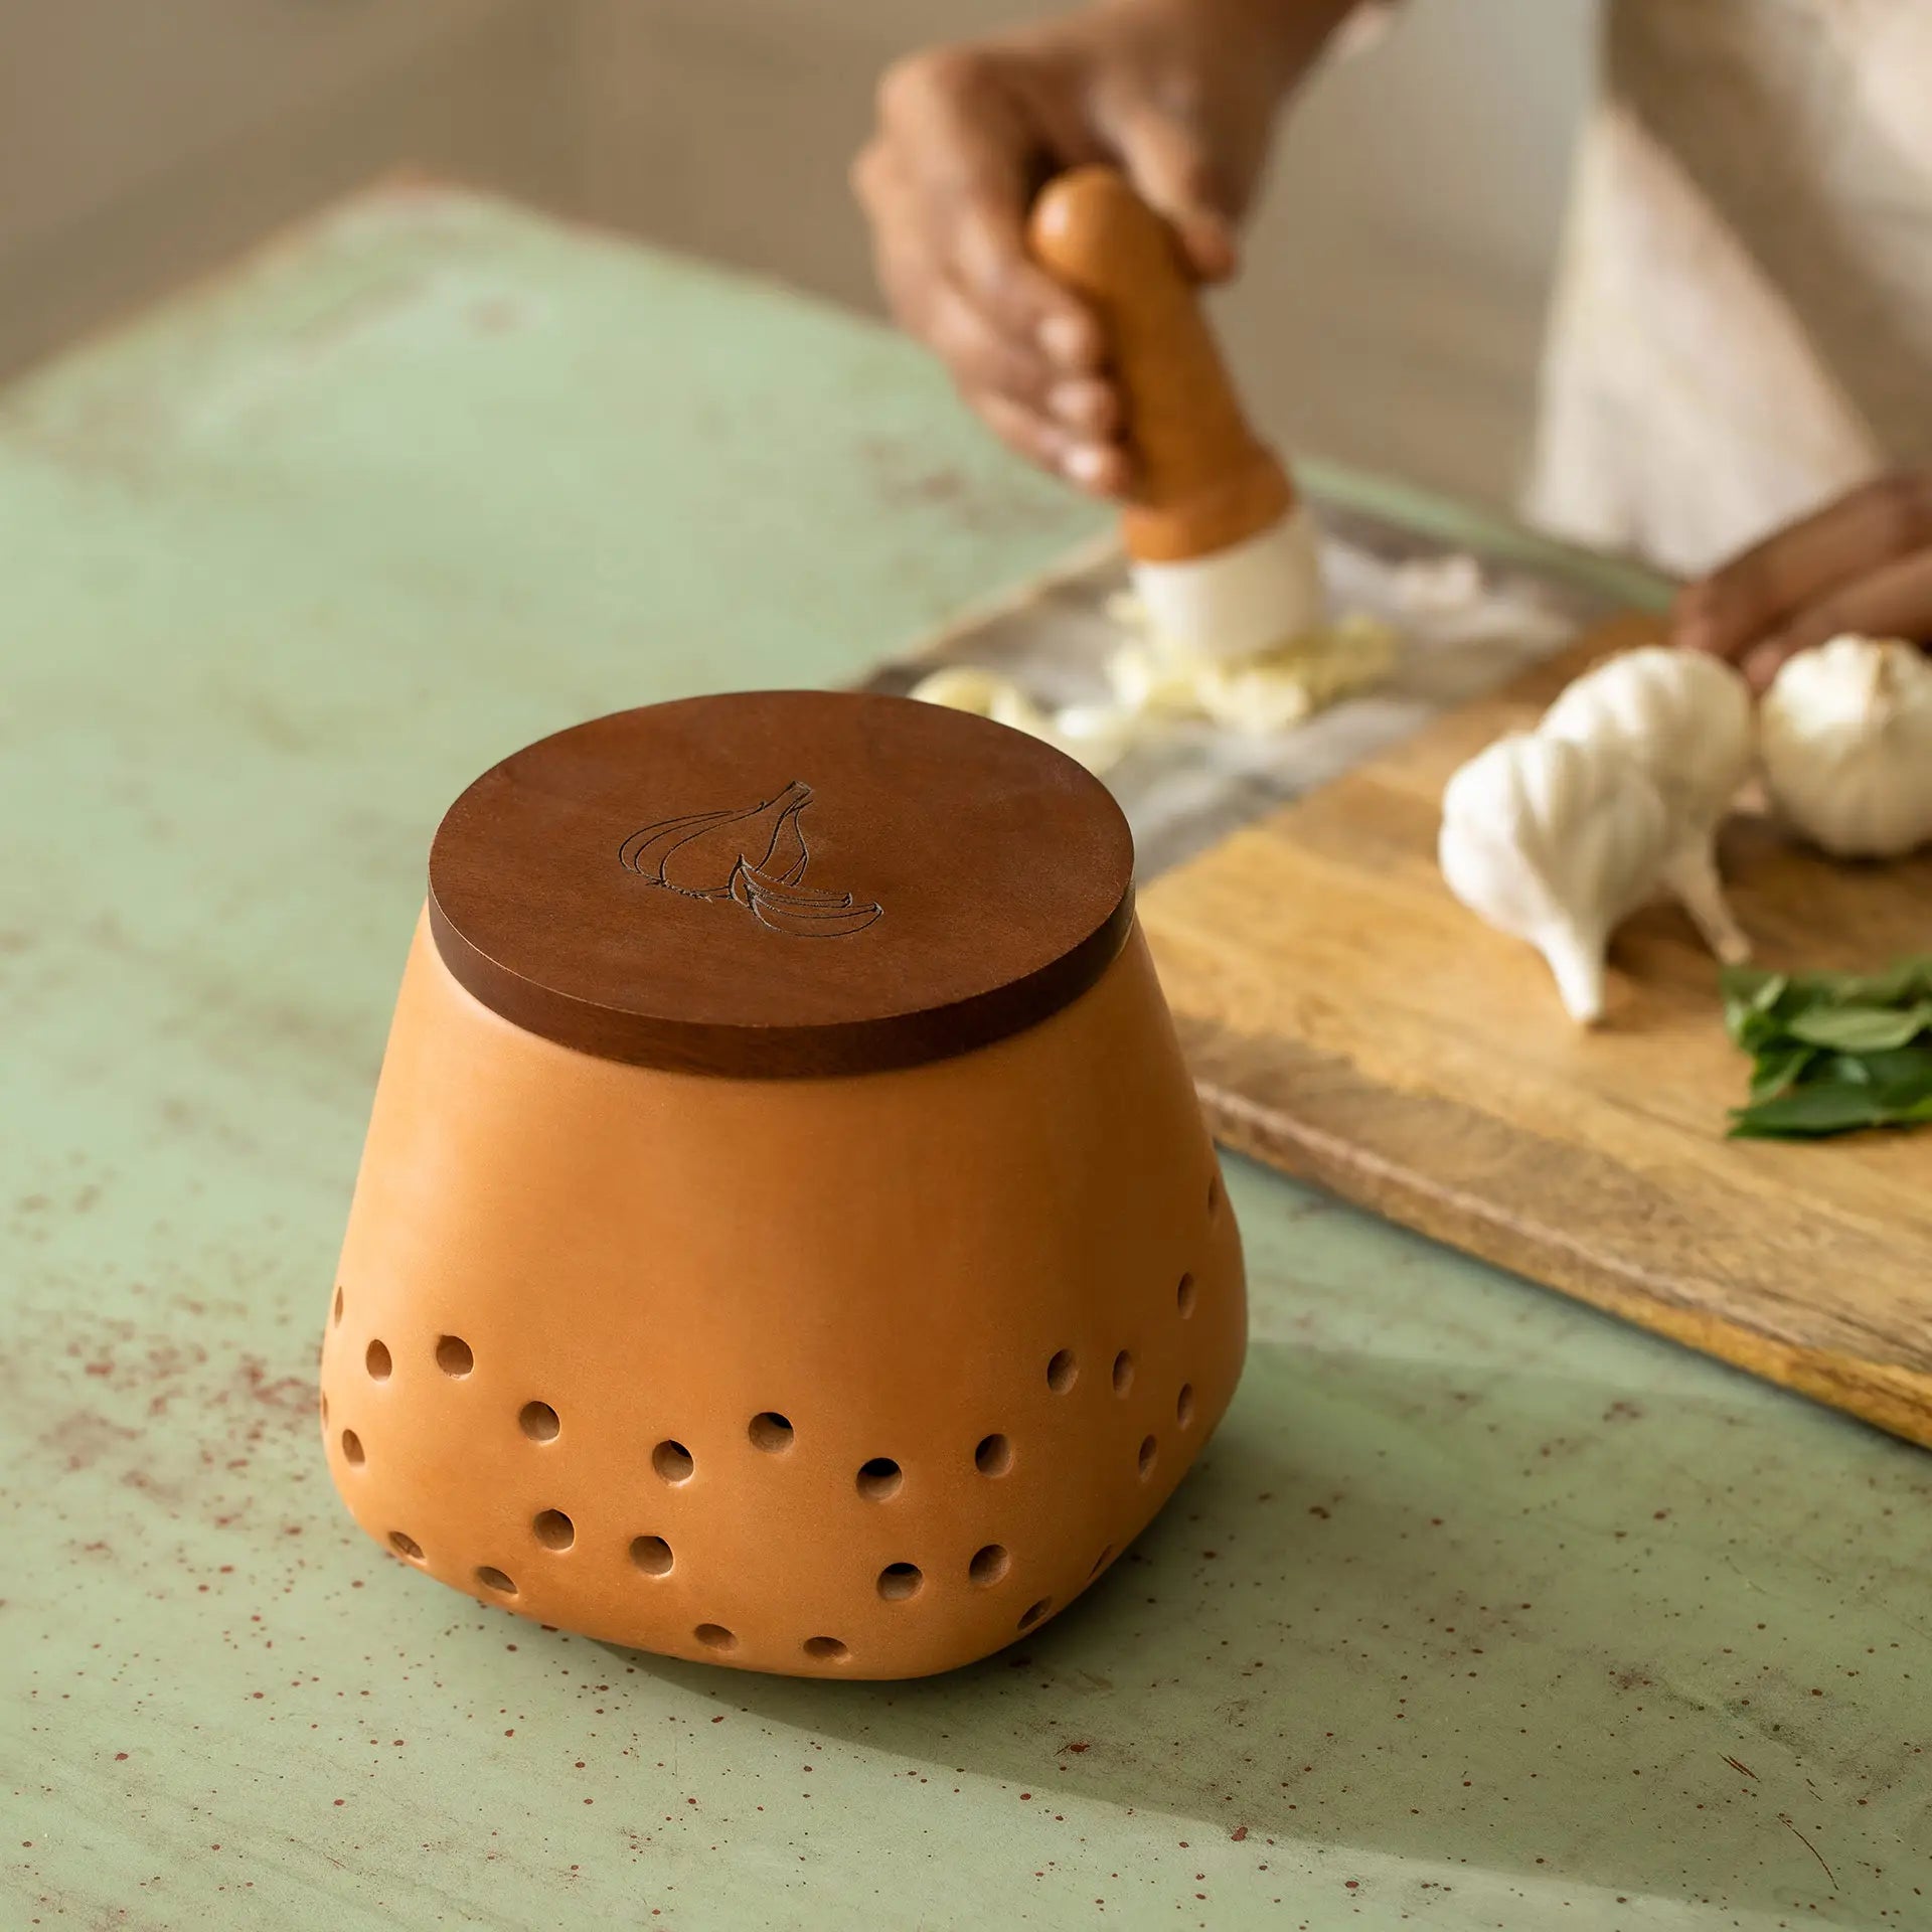
[[1240,413],[1167,222],[1113,168],[1074,168],[1034,203],[1028,242],[1107,334],[1136,466],[1121,535],[1153,636],[1250,657],[1318,624],[1314,526]]

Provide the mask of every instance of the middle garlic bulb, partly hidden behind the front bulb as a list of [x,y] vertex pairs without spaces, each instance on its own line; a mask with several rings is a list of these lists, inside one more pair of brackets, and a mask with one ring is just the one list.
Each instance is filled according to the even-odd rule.
[[1718,958],[1731,966],[1750,958],[1718,877],[1718,821],[1756,757],[1745,680],[1716,657],[1646,645],[1586,670],[1538,728],[1611,746],[1644,767],[1679,835],[1660,883]]

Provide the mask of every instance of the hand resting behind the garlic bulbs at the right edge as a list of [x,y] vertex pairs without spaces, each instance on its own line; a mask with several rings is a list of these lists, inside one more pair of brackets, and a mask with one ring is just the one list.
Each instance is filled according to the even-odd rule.
[[1864,483],[1685,585],[1673,641],[1735,663],[1756,690],[1841,632],[1932,639],[1932,475]]

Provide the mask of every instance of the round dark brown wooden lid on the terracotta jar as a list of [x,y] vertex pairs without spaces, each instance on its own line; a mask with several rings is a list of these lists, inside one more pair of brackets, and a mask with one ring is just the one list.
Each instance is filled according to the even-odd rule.
[[618,711],[483,773],[429,854],[456,980],[605,1059],[854,1074],[1057,1012],[1132,923],[1107,788],[985,719],[860,692]]

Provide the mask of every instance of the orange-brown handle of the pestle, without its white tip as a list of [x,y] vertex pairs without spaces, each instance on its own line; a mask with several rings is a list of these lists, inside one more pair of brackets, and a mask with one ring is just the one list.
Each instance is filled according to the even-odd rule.
[[1128,554],[1190,562],[1279,524],[1294,489],[1240,412],[1173,230],[1121,174],[1094,166],[1041,191],[1028,240],[1107,330],[1136,460]]

